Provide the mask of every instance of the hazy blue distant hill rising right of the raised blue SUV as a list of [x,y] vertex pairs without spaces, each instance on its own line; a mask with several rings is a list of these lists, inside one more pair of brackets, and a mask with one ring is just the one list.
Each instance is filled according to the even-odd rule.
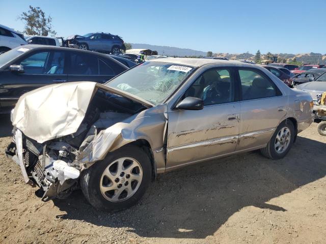
[[187,48],[168,47],[168,46],[156,46],[149,44],[131,43],[132,48],[144,48],[157,51],[158,55],[166,56],[206,56],[206,52],[192,50]]

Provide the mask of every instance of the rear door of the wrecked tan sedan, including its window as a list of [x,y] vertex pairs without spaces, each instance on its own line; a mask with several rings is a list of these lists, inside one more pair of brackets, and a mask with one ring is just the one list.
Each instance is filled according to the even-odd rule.
[[238,68],[241,116],[236,150],[255,148],[267,143],[286,115],[286,98],[262,71]]

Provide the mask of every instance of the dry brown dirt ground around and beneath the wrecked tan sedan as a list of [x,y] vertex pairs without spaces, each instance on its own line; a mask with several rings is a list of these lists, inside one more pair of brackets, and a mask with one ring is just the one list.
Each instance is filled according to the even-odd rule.
[[97,211],[76,191],[42,202],[5,157],[0,117],[0,243],[325,243],[326,137],[316,124],[279,161],[258,151],[160,175],[141,202]]

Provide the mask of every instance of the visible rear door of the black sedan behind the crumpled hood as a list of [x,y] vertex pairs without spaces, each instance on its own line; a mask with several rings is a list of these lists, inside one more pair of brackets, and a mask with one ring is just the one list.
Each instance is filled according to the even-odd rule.
[[124,71],[122,67],[96,55],[70,52],[68,81],[105,83]]

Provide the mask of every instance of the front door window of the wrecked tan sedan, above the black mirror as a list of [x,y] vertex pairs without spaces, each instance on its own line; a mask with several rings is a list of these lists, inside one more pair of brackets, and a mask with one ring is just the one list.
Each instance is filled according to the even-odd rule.
[[228,69],[210,69],[186,90],[185,97],[204,100],[204,106],[234,102],[234,81]]

